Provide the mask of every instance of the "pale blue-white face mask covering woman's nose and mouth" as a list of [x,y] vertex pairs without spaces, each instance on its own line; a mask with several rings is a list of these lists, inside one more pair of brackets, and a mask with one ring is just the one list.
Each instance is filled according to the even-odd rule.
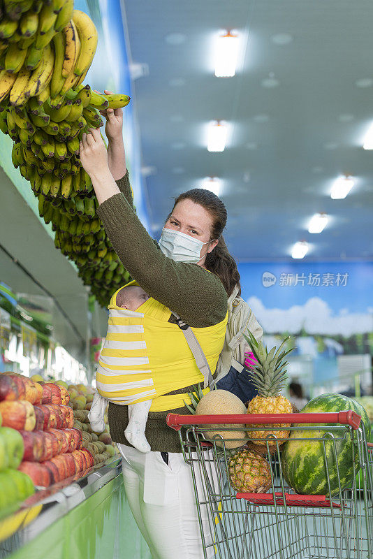
[[198,264],[205,256],[205,254],[200,256],[203,245],[209,245],[210,242],[212,241],[202,242],[191,237],[191,235],[186,235],[186,233],[163,228],[158,244],[163,254],[168,258],[176,262]]

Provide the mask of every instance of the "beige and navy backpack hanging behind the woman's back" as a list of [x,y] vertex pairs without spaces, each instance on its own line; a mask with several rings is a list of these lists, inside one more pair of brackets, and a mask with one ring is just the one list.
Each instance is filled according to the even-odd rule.
[[212,387],[228,390],[245,403],[254,398],[258,392],[251,382],[249,371],[244,366],[245,360],[248,363],[247,354],[251,353],[251,348],[243,334],[249,331],[259,341],[263,336],[263,328],[249,305],[242,297],[237,296],[237,293],[238,286],[228,298],[226,337]]

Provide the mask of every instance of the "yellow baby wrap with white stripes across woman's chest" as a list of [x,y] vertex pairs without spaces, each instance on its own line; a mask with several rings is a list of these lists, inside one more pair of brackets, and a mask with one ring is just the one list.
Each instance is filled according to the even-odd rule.
[[[183,400],[190,402],[186,394],[166,394],[203,382],[182,331],[168,322],[170,310],[153,298],[136,311],[117,307],[118,291],[108,306],[108,334],[96,372],[98,393],[119,405],[152,399],[151,412],[182,407]],[[192,328],[212,371],[224,344],[226,321]]]

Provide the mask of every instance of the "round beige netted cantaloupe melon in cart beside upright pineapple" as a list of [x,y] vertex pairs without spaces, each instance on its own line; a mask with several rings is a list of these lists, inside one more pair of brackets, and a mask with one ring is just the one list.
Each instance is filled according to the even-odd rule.
[[[237,396],[227,390],[207,392],[200,399],[196,407],[196,415],[246,414],[246,412],[246,406],[240,398],[237,398]],[[205,426],[200,427],[205,428]],[[222,430],[224,425],[212,425],[211,427],[217,428],[217,430],[204,431],[204,435],[207,439],[211,440],[215,436],[218,447],[223,447],[225,442],[226,449],[236,449],[237,447],[242,447],[242,444],[247,441],[247,435],[244,431]],[[240,425],[227,425],[226,427],[240,427]],[[219,435],[223,437],[224,442],[220,439]]]

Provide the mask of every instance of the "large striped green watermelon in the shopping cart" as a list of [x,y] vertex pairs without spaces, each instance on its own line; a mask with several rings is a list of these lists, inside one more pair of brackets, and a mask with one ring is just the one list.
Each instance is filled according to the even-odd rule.
[[[302,409],[302,414],[323,413],[323,412],[342,412],[352,409],[358,413],[365,426],[365,434],[369,437],[370,420],[367,412],[356,400],[352,400],[342,394],[323,394],[310,400]],[[310,424],[317,426],[316,423]],[[353,471],[353,442],[349,432],[333,429],[337,423],[330,423],[328,426],[321,426],[320,430],[293,430],[289,440],[284,446],[282,456],[282,470],[284,478],[289,486],[296,493],[301,495],[329,495],[328,477],[330,482],[331,495],[339,493],[338,471],[342,491],[351,484],[353,477],[360,470],[358,465],[358,448],[355,442],[356,468]],[[298,425],[295,425],[295,427]],[[307,428],[304,424],[302,428]],[[295,440],[295,439],[319,439],[332,433],[339,440],[326,442],[325,452],[328,462],[328,474],[326,470],[323,442],[320,440]],[[342,437],[344,437],[342,439]],[[330,437],[329,437],[330,441]]]

